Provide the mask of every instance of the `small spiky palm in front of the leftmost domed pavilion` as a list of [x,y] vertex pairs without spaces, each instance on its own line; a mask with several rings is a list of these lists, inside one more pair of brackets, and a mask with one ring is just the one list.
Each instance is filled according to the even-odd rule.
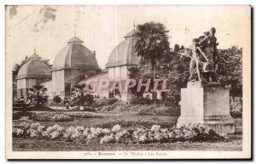
[[45,88],[44,85],[36,84],[32,86],[32,88],[29,88],[29,90],[32,92],[32,100],[36,101],[37,105],[44,105],[47,103],[49,96],[46,94],[47,88]]

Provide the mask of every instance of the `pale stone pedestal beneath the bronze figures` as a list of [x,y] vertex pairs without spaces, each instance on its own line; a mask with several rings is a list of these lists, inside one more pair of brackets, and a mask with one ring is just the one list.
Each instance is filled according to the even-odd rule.
[[177,127],[202,123],[217,133],[235,133],[230,116],[230,88],[212,88],[198,83],[181,89],[181,116]]

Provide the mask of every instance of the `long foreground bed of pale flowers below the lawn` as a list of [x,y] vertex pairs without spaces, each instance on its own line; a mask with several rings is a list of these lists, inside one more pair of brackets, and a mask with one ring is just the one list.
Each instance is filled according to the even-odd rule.
[[19,125],[15,125],[13,137],[74,141],[87,144],[154,144],[224,139],[211,128],[200,124],[180,128],[162,128],[160,125],[153,125],[150,128],[125,128],[119,124],[111,128],[84,128],[83,126],[65,128],[57,124],[52,127],[44,127],[39,123],[30,122],[21,122]]

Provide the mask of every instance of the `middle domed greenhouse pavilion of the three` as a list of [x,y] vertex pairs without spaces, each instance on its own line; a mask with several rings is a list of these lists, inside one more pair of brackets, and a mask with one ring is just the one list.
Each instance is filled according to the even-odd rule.
[[[99,70],[96,53],[85,48],[83,41],[73,37],[67,46],[55,56],[50,90],[52,96],[70,97],[71,89],[85,76],[92,76]],[[47,84],[46,84],[47,85]],[[49,84],[48,84],[49,85]]]

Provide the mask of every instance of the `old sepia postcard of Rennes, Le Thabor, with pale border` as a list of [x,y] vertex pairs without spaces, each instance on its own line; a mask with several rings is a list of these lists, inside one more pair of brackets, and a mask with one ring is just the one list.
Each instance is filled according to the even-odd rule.
[[251,158],[251,6],[6,5],[7,159]]

